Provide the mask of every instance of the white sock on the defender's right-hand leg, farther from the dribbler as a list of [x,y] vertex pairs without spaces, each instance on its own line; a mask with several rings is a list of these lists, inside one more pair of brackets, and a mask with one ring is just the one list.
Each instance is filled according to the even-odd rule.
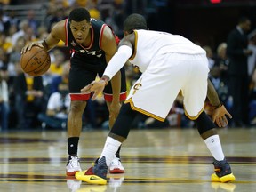
[[212,156],[217,161],[224,160],[225,156],[222,151],[219,135],[212,135],[211,137],[204,140],[204,142],[205,142],[207,148],[210,150]]

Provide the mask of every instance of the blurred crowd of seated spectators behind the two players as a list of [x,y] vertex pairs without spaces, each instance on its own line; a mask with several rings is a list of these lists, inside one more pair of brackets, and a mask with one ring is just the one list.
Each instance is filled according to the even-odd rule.
[[[185,36],[207,52],[209,77],[220,100],[232,114],[233,97],[228,87],[228,34],[238,20],[246,17],[251,26],[246,31],[248,55],[248,100],[244,100],[248,121],[232,126],[256,126],[256,2],[253,0],[0,0],[0,126],[2,131],[22,129],[65,129],[68,116],[69,52],[60,42],[50,52],[52,65],[44,76],[24,74],[20,68],[20,50],[28,42],[44,39],[52,26],[68,17],[77,7],[86,7],[92,18],[105,21],[117,36],[123,37],[127,15],[140,13],[148,28]],[[246,48],[246,49],[247,49]],[[140,76],[126,67],[127,90]],[[245,67],[244,67],[245,68]],[[247,68],[247,67],[246,67]],[[56,96],[56,93],[59,96]],[[53,96],[55,94],[55,96]],[[51,99],[52,97],[52,99]],[[59,105],[56,104],[59,98]],[[157,95],[156,95],[157,99]],[[55,101],[54,101],[55,100]],[[242,103],[242,105],[244,105]],[[247,104],[248,103],[248,104]],[[207,100],[206,110],[211,115]],[[208,106],[208,108],[207,108]],[[58,109],[58,114],[52,111]],[[60,121],[55,121],[60,119]],[[108,129],[108,109],[103,98],[89,101],[84,111],[84,129]],[[178,96],[164,123],[146,116],[134,120],[134,128],[193,127],[184,115],[182,97]]]

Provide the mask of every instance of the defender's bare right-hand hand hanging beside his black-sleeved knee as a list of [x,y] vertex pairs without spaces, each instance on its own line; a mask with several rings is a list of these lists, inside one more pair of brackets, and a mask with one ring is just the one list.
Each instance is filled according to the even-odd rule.
[[221,105],[219,108],[212,109],[212,121],[218,124],[219,127],[226,127],[228,125],[227,116],[232,118],[224,105]]

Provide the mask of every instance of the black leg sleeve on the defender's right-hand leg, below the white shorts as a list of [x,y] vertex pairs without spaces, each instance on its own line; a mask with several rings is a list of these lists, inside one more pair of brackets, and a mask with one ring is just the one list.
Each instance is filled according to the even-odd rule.
[[203,111],[198,118],[195,120],[197,125],[197,130],[200,134],[207,132],[216,127],[216,125],[212,122],[212,119],[205,114]]

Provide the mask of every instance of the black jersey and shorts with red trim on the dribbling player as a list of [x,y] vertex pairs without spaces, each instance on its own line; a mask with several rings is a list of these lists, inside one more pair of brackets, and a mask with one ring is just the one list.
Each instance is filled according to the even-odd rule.
[[[70,70],[68,76],[68,87],[71,100],[89,100],[91,93],[81,94],[81,89],[91,84],[95,80],[96,76],[102,76],[105,68],[107,67],[107,61],[105,58],[105,52],[101,49],[102,37],[104,28],[108,28],[101,20],[91,19],[91,44],[84,47],[78,44],[71,32],[71,28],[68,19],[65,23],[66,29],[66,41],[65,45],[72,52],[70,58]],[[110,27],[109,27],[110,28]],[[113,32],[113,30],[112,30]],[[113,32],[113,36],[115,36]],[[116,44],[119,43],[117,36]],[[124,68],[121,70],[121,93],[120,100],[126,98],[126,79]],[[112,100],[112,85],[111,82],[104,89],[105,100],[109,102]]]

